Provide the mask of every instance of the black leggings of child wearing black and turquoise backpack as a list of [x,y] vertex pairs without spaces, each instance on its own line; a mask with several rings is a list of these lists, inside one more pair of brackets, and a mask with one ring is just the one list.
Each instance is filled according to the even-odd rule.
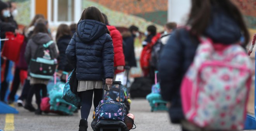
[[40,109],[41,104],[41,94],[40,91],[42,90],[42,97],[47,96],[47,88],[45,84],[34,84],[32,87],[35,90],[36,94],[36,104],[38,106],[38,109]]

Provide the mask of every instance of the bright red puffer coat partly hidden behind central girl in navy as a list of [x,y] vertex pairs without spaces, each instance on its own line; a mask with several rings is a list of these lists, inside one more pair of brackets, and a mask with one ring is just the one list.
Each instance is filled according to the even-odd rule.
[[[114,67],[125,66],[125,55],[123,53],[123,38],[121,33],[116,27],[107,25],[107,29],[110,31],[110,36],[114,46]],[[115,71],[115,74],[123,71]]]

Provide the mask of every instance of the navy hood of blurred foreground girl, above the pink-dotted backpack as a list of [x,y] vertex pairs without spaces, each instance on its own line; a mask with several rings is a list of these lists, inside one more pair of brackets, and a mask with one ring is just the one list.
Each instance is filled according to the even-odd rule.
[[240,40],[241,31],[237,22],[220,8],[213,8],[211,22],[204,34],[214,42],[232,44]]

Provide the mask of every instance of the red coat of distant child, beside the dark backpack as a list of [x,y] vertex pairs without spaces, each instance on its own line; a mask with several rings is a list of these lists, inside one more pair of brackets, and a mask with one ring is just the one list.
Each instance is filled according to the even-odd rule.
[[149,67],[149,60],[151,58],[151,51],[153,45],[157,42],[157,40],[160,38],[161,34],[156,34],[151,42],[149,42],[142,50],[141,56],[140,56],[140,66],[142,69]]

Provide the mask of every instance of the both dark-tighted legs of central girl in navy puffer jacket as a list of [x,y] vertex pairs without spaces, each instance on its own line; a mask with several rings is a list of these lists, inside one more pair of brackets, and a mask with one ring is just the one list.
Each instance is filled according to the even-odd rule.
[[92,96],[94,92],[93,105],[94,110],[99,105],[99,102],[102,100],[103,89],[93,89],[88,91],[79,92],[81,96],[81,118],[88,119],[90,114],[90,109],[92,107]]

